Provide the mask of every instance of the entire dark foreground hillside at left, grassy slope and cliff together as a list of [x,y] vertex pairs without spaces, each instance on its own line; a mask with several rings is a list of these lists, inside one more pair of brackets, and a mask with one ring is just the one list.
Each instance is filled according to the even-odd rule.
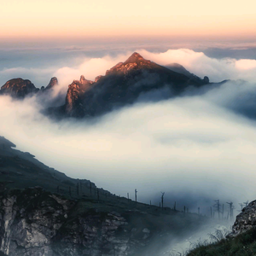
[[14,147],[0,137],[0,252],[6,255],[156,256],[208,221],[113,195]]

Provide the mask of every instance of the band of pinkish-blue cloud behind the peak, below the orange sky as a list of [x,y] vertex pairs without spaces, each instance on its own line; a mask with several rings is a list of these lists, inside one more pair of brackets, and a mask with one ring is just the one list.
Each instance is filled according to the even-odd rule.
[[[133,51],[143,57],[168,65],[178,62],[191,73],[222,79],[253,79],[253,69],[241,71],[236,61],[256,59],[255,44],[246,42],[189,42],[180,40],[144,40],[141,42],[33,42],[0,43],[0,85],[9,79],[30,79],[36,87],[46,86],[57,76],[64,90],[81,74],[94,80]],[[239,67],[239,65],[238,65]],[[253,65],[251,65],[253,67]],[[254,68],[255,70],[255,68]]]

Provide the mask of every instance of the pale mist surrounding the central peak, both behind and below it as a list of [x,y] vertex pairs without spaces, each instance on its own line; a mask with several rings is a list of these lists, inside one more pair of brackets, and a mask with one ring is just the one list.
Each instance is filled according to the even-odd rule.
[[[101,118],[59,122],[41,113],[44,106],[37,96],[24,101],[0,96],[1,135],[67,176],[90,179],[116,195],[133,195],[137,189],[138,201],[159,205],[162,191],[166,207],[177,201],[178,210],[201,207],[209,215],[214,200],[254,200],[255,61],[215,59],[191,49],[137,51],[160,65],[177,62],[214,82],[232,81],[189,88],[172,99],[160,100],[160,92],[141,96],[129,108]],[[60,81],[55,96],[81,74],[94,79],[129,55],[75,58],[70,67],[31,72],[43,77],[50,70]],[[9,74],[15,76],[12,69]],[[157,101],[145,101],[151,97]]]

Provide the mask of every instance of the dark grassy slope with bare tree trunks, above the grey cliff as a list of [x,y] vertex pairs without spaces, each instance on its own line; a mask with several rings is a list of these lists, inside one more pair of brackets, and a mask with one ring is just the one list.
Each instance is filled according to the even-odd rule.
[[[79,195],[77,193],[78,184]],[[201,224],[209,221],[209,219],[194,213],[185,214],[168,207],[160,209],[158,206],[136,203],[131,199],[113,195],[104,189],[98,190],[94,183],[91,184],[90,191],[89,180],[67,177],[64,173],[44,166],[31,154],[25,154],[9,147],[0,147],[0,195],[12,192],[20,193],[20,189],[40,186],[48,191],[47,193],[58,194],[64,199],[76,202],[73,210],[69,213],[68,218],[71,221],[90,211],[101,212],[103,215],[108,212],[119,212],[129,223],[126,229],[136,228],[134,236],[139,236],[144,228],[148,228],[153,236],[152,241],[157,239],[158,247],[155,247],[155,244],[152,244],[152,247],[149,245],[147,253],[144,252],[143,255],[148,255],[153,250],[160,251],[170,242],[169,235],[181,237],[189,230],[197,230]],[[32,204],[32,202],[30,203]]]

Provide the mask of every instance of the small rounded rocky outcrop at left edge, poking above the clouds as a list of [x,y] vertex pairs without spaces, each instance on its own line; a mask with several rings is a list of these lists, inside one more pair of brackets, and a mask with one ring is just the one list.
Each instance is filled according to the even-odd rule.
[[15,98],[24,98],[38,89],[30,80],[11,79],[1,87],[0,94],[7,94]]

